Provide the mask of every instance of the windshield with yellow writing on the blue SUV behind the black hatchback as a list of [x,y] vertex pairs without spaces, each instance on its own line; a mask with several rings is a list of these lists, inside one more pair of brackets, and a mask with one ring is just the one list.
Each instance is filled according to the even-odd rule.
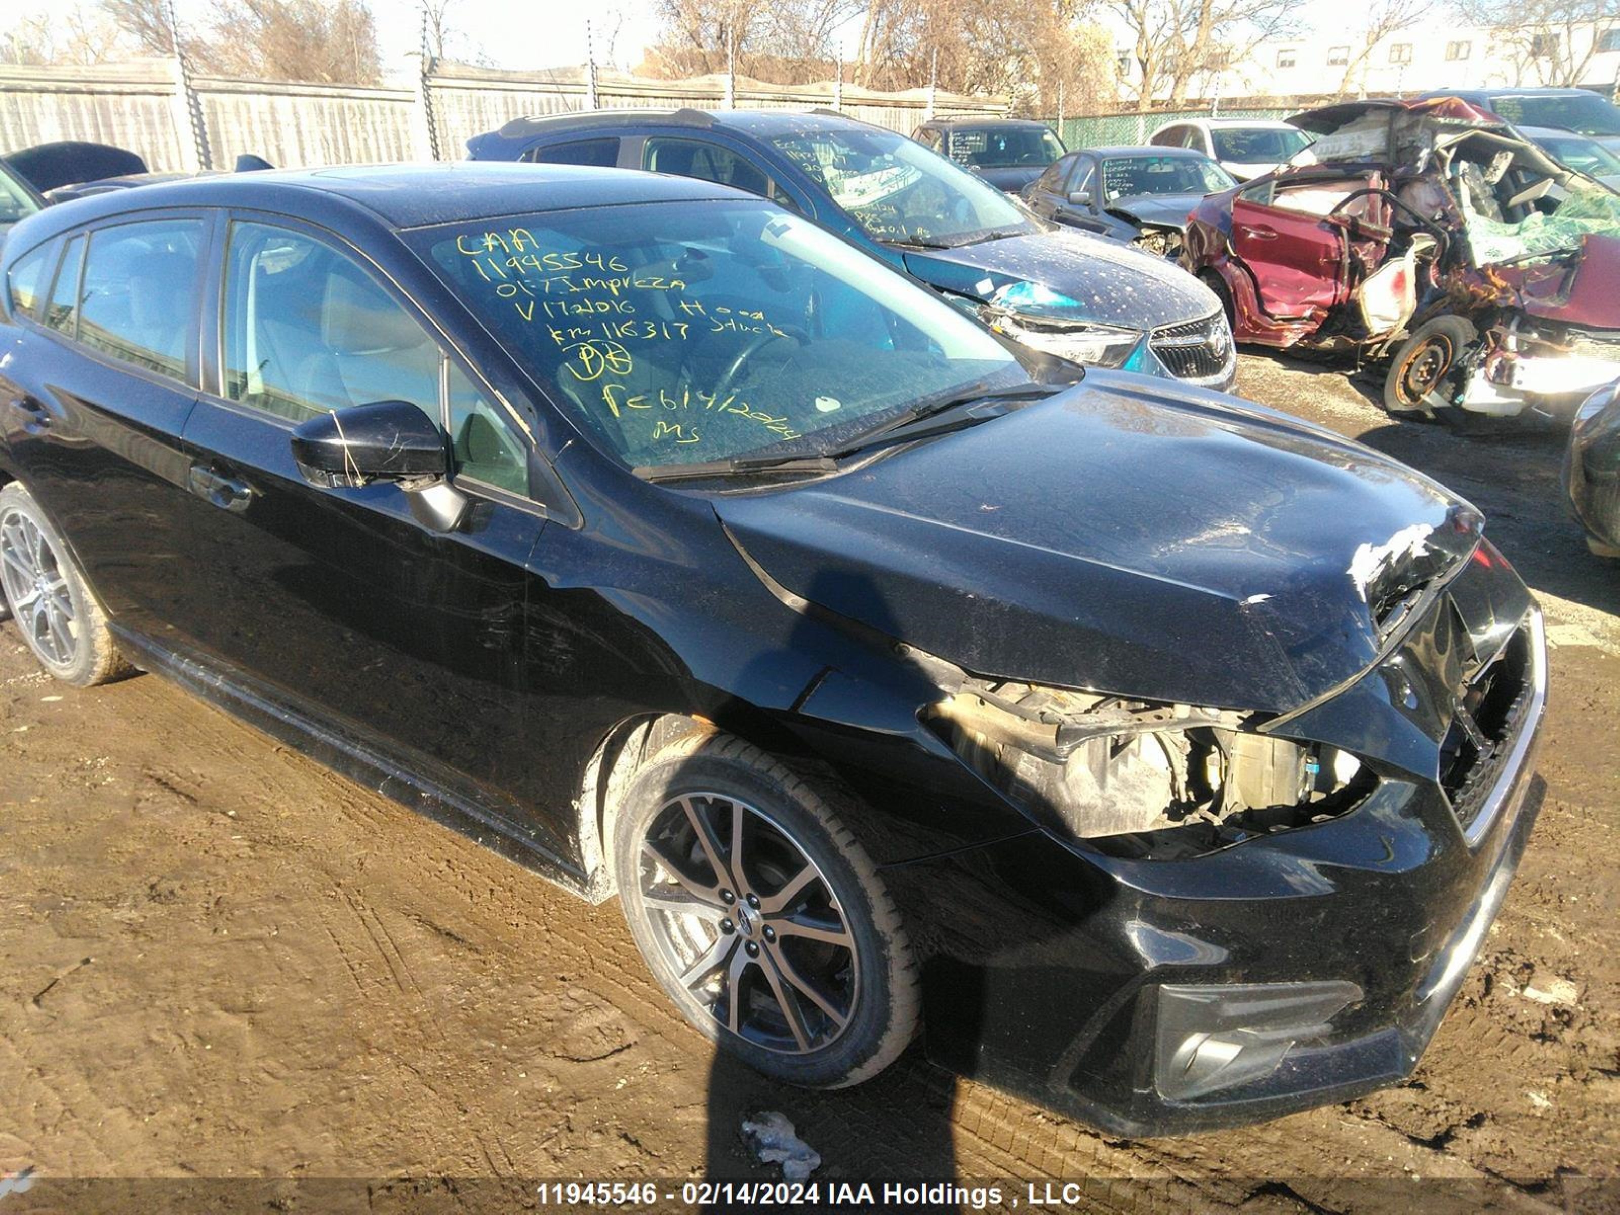
[[1040,230],[993,185],[893,131],[834,128],[771,143],[873,240],[951,246]]

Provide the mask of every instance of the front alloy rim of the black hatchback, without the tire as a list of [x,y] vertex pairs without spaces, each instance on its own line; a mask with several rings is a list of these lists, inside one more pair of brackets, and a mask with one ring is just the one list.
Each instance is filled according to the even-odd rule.
[[637,873],[659,948],[718,1025],[787,1055],[849,1027],[855,938],[826,875],[770,815],[724,794],[674,797]]

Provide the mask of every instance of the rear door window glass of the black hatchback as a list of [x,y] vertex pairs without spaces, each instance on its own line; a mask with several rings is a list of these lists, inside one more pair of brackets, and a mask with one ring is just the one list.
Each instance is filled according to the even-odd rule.
[[91,233],[79,340],[123,363],[186,377],[202,220],[118,224]]

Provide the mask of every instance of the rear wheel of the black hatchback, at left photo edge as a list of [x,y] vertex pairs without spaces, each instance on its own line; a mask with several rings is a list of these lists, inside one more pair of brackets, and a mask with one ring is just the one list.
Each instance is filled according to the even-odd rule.
[[94,687],[130,671],[66,543],[15,481],[0,489],[0,591],[34,658],[63,684]]

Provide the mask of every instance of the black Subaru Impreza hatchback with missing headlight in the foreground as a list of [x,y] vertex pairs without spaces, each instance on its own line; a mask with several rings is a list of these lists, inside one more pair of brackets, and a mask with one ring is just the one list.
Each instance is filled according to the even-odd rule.
[[[773,1076],[1124,1134],[1405,1076],[1536,813],[1541,617],[1320,429],[1011,348],[771,202],[198,180],[5,246],[0,580],[590,899]],[[1084,376],[1084,377],[1082,377]]]

